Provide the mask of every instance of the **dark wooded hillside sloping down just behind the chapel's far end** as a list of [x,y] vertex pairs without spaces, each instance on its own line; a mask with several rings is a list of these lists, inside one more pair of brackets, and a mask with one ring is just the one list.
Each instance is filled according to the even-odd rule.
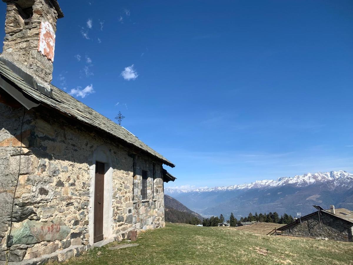
[[[196,212],[191,211],[178,200],[164,195],[164,215],[166,222],[170,223],[195,223],[199,219],[202,223],[203,217]],[[195,220],[195,222],[191,222]],[[196,224],[196,223],[195,223]]]

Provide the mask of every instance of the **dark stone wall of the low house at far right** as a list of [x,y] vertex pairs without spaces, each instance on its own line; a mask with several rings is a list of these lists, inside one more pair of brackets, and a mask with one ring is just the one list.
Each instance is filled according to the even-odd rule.
[[322,212],[322,223],[319,222],[318,214],[299,219],[297,223],[282,230],[283,235],[304,237],[327,237],[332,240],[353,241],[352,224],[340,218]]

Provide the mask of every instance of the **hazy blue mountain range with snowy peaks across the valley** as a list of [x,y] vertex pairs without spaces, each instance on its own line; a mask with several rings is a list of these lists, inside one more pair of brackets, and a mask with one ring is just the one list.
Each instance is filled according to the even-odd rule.
[[221,213],[229,217],[250,212],[277,212],[297,216],[312,212],[312,205],[353,210],[353,174],[346,171],[307,173],[277,180],[255,181],[227,187],[177,189],[165,188],[192,211],[208,217]]

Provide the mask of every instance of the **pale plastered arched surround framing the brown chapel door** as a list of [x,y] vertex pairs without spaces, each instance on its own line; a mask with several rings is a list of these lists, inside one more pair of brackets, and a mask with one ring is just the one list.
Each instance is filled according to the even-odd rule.
[[[103,201],[103,240],[114,238],[113,233],[113,167],[112,156],[108,147],[97,147],[92,155],[90,166],[90,206],[88,213],[89,245],[94,246],[94,200],[95,200],[95,176],[96,162],[104,163],[104,201]],[[101,243],[98,241],[96,243]]]

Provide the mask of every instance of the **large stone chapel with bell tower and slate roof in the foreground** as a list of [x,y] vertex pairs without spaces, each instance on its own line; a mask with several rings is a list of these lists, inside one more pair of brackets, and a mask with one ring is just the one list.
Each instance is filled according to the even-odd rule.
[[3,1],[0,263],[61,262],[163,228],[174,164],[50,84],[58,1]]

